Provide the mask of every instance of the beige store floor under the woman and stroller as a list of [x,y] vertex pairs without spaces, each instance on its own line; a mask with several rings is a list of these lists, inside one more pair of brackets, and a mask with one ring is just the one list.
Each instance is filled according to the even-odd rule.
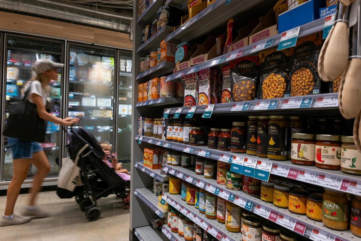
[[[28,194],[20,194],[15,213],[26,204]],[[4,214],[6,197],[0,197],[0,214]],[[88,221],[75,199],[60,199],[55,191],[39,193],[39,207],[51,213],[42,219],[29,223],[0,227],[0,240],[129,240],[129,209],[123,201],[110,195],[98,201],[101,215],[97,221]]]

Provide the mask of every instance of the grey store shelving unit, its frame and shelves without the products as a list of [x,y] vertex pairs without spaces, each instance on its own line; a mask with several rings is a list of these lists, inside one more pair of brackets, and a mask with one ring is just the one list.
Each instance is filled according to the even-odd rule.
[[[133,47],[133,76],[134,85],[143,83],[146,80],[155,77],[166,76],[165,81],[179,80],[181,77],[199,72],[206,68],[217,67],[227,65],[229,61],[238,59],[239,57],[257,55],[259,51],[263,51],[263,48],[258,51],[254,51],[257,46],[266,42],[271,43],[267,48],[277,47],[282,34],[274,35],[270,38],[262,39],[261,41],[239,48],[233,52],[225,55],[218,56],[214,59],[208,60],[204,63],[191,66],[188,69],[181,70],[178,73],[173,73],[174,64],[165,62],[158,64],[157,66],[139,73],[140,58],[145,57],[145,54],[149,54],[150,51],[155,51],[159,48],[160,41],[165,39],[166,42],[189,42],[195,40],[200,36],[209,33],[216,29],[234,16],[245,13],[247,10],[255,9],[255,6],[261,6],[266,4],[265,0],[242,0],[230,1],[226,5],[226,0],[216,0],[213,4],[202,10],[199,14],[187,21],[184,25],[174,30],[164,27],[158,31],[154,36],[142,43],[142,29],[147,22],[151,21],[157,9],[162,5],[162,0],[153,1],[151,5],[145,10],[140,18],[135,18],[134,28],[134,47]],[[137,3],[138,1],[136,1]],[[163,1],[162,1],[163,2]],[[227,1],[228,2],[228,1]],[[168,0],[166,4],[180,6],[183,3],[181,0]],[[357,1],[358,3],[358,1]],[[135,4],[137,5],[137,4]],[[352,9],[353,10],[353,9]],[[138,9],[134,8],[134,16],[137,15]],[[352,16],[353,15],[353,16]],[[355,24],[355,14],[350,14],[349,26]],[[313,33],[317,33],[323,30],[325,19],[321,18],[305,25],[300,26],[299,38],[308,36]],[[137,96],[138,92],[136,88],[133,89],[133,96]],[[147,116],[153,118],[159,118],[162,113],[168,113],[169,117],[172,117],[177,110],[176,106],[172,104],[182,104],[182,99],[174,98],[159,98],[155,100],[147,100],[144,102],[133,101],[134,116],[132,121],[132,137],[135,141],[132,141],[132,180],[131,189],[135,190],[148,190],[152,184],[153,178],[158,181],[164,181],[168,178],[165,175],[161,175],[159,170],[152,170],[143,167],[140,160],[143,158],[143,149],[145,147],[159,146],[169,150],[177,150],[182,152],[191,153],[193,155],[205,156],[213,160],[221,160],[223,162],[237,162],[240,166],[244,163],[244,160],[260,160],[271,164],[270,174],[279,177],[286,177],[292,180],[302,181],[308,184],[315,184],[318,186],[328,187],[334,190],[342,190],[349,194],[361,195],[361,178],[355,175],[347,175],[340,171],[332,171],[326,169],[320,169],[316,167],[305,167],[301,165],[292,164],[290,161],[274,161],[267,158],[257,158],[255,156],[249,156],[246,154],[235,154],[227,151],[219,151],[214,149],[208,149],[206,146],[190,146],[177,142],[163,141],[153,137],[145,137],[137,135],[137,119],[139,116]],[[162,107],[156,107],[162,106]],[[145,108],[144,108],[145,107]],[[164,109],[163,109],[164,108]],[[179,108],[179,107],[178,107]],[[180,117],[184,118],[190,110],[190,107],[182,107]],[[163,111],[163,112],[161,112]],[[205,106],[196,106],[193,118],[201,118],[201,114],[205,111]],[[337,94],[318,94],[309,96],[297,96],[297,97],[285,97],[271,100],[252,100],[246,102],[232,102],[224,104],[214,104],[213,112],[216,118],[217,115],[227,116],[243,116],[243,115],[296,115],[296,116],[338,116],[338,95]],[[206,119],[203,119],[206,120]],[[211,119],[212,120],[212,119]],[[139,143],[139,144],[138,144]],[[236,160],[236,161],[234,161]],[[257,169],[257,166],[256,166]],[[207,191],[229,199],[236,205],[246,208],[256,215],[274,221],[280,224],[282,227],[288,228],[293,232],[299,233],[311,240],[326,240],[326,237],[333,238],[333,240],[356,240],[357,237],[347,231],[334,231],[326,228],[322,223],[314,222],[306,216],[292,214],[287,209],[281,209],[275,207],[272,203],[266,203],[261,199],[253,197],[243,193],[242,191],[233,191],[226,189],[225,186],[218,185],[215,180],[204,178],[201,175],[196,175],[194,171],[182,167],[172,167],[166,165],[166,171],[170,175],[178,176],[187,182],[199,186]],[[145,175],[144,175],[145,174]],[[255,178],[257,178],[255,176]],[[149,191],[149,190],[148,190]],[[154,216],[157,216],[150,207],[151,211],[144,211],[144,200],[132,197],[132,211],[131,211],[131,225],[130,229],[133,234],[139,234],[137,230],[144,227],[149,228],[149,220]],[[143,198],[144,199],[144,198]],[[204,229],[209,229],[210,234],[219,240],[241,240],[241,233],[229,233],[226,231],[224,224],[219,224],[215,220],[205,218],[203,214],[200,214],[194,206],[186,205],[186,202],[181,200],[179,195],[166,194],[166,202],[171,206],[176,207],[178,210],[190,216],[197,224],[203,225]],[[149,205],[147,205],[149,207]],[[148,208],[149,209],[149,208]],[[211,227],[211,228],[210,228]],[[155,232],[152,230],[152,232]],[[170,229],[164,225],[162,232],[169,240],[183,240],[179,239],[177,234],[174,234]],[[318,237],[311,235],[312,233],[319,233]],[[138,235],[139,236],[139,235]],[[135,237],[133,235],[133,237]],[[323,237],[323,239],[322,239]],[[318,239],[317,239],[318,238]],[[321,239],[320,239],[321,238]],[[158,238],[161,239],[161,238]],[[332,240],[332,239],[331,239]]]

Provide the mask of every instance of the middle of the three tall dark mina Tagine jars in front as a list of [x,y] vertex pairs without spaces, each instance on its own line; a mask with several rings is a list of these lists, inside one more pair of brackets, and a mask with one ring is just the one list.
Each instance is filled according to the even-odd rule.
[[257,156],[267,157],[269,116],[258,116],[257,122]]

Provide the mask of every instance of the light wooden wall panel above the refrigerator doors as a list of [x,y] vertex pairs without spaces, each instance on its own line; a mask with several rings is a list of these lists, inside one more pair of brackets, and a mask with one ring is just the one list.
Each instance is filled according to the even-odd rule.
[[129,34],[0,11],[0,29],[132,49]]

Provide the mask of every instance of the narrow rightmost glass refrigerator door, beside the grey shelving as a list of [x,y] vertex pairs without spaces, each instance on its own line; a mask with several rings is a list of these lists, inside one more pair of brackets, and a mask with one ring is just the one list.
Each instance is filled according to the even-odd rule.
[[130,171],[132,115],[132,52],[119,51],[117,152],[123,168]]

